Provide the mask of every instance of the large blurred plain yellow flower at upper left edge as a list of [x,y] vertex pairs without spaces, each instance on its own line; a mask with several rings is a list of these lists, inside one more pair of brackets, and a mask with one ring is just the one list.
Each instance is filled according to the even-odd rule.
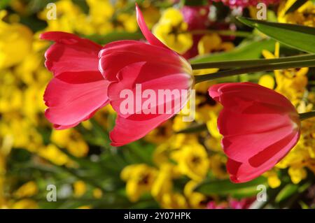
[[33,38],[28,27],[18,23],[3,22],[2,18],[5,14],[5,11],[0,10],[0,69],[22,62],[31,50]]

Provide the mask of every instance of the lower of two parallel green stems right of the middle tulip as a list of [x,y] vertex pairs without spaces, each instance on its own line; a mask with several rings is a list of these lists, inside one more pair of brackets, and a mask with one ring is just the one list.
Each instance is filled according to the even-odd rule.
[[219,71],[217,73],[208,73],[204,75],[195,75],[195,82],[203,82],[208,80],[215,80],[218,78],[225,78],[233,75],[239,75],[243,73],[253,73],[260,71],[274,71],[281,69],[294,69],[294,68],[302,68],[302,67],[314,67],[315,59],[302,61],[302,62],[285,62],[278,64],[267,64],[263,66],[253,66],[248,68],[240,68],[240,69],[232,69],[228,71]]

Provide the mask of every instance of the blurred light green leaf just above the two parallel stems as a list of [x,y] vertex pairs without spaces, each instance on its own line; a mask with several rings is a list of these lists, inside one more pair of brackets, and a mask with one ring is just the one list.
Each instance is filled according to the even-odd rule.
[[262,50],[274,51],[274,40],[267,39],[262,41],[241,43],[237,48],[228,52],[211,53],[190,59],[190,63],[220,62],[236,59],[257,59],[260,58]]

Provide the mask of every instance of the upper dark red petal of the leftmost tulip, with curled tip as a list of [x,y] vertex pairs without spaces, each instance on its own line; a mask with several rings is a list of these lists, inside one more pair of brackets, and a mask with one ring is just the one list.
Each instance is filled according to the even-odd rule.
[[[82,78],[84,82],[103,79],[98,70],[101,45],[62,31],[45,32],[41,38],[56,42],[45,52],[45,66],[55,77],[77,82]],[[90,75],[82,77],[86,71]]]

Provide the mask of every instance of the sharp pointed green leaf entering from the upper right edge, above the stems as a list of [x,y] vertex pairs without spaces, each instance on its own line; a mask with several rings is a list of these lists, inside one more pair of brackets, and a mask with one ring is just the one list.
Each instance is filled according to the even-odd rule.
[[297,24],[266,22],[239,17],[239,21],[254,27],[276,41],[304,52],[315,52],[315,28]]

